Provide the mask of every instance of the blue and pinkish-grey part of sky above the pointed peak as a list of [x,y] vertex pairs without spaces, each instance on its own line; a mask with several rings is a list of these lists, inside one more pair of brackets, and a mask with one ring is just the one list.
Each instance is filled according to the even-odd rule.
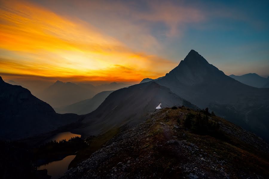
[[[85,20],[137,51],[179,62],[193,49],[227,75],[269,75],[269,1],[98,2],[93,10],[73,9],[73,1],[42,5]],[[170,17],[162,18],[165,13]],[[145,42],[139,35],[148,46],[140,45]]]

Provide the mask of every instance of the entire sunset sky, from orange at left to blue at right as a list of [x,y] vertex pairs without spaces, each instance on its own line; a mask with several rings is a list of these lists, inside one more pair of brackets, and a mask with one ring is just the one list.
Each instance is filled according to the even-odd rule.
[[269,75],[269,1],[2,1],[0,75],[135,84],[190,50],[226,75]]

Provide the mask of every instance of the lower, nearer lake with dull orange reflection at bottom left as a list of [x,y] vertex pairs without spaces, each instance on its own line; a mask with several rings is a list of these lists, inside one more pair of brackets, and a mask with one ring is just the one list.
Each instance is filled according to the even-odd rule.
[[69,155],[60,161],[54,161],[45,165],[41,165],[37,169],[38,170],[47,169],[48,175],[51,175],[51,179],[56,179],[63,176],[65,172],[67,172],[68,165],[75,157],[76,155]]

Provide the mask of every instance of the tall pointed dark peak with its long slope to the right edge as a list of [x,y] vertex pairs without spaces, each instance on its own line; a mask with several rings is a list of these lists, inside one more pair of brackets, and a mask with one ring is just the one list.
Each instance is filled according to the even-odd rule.
[[250,87],[230,78],[194,50],[156,82],[198,107],[209,107],[269,139],[269,89]]

